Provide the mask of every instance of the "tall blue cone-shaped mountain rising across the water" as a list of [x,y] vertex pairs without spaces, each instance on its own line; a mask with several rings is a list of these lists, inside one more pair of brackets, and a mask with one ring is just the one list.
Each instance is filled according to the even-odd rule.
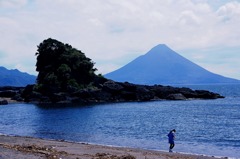
[[239,83],[207,71],[182,57],[165,44],[152,48],[122,68],[105,75],[119,82],[135,84],[215,84]]

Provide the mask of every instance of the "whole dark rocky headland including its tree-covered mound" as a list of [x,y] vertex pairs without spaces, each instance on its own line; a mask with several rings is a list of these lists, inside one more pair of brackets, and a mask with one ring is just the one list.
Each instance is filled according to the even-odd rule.
[[[115,82],[96,75],[94,63],[84,53],[55,39],[38,46],[37,83],[1,87],[0,97],[34,103],[98,103],[151,100],[216,99],[221,95],[162,85]],[[6,104],[4,101],[3,103]]]

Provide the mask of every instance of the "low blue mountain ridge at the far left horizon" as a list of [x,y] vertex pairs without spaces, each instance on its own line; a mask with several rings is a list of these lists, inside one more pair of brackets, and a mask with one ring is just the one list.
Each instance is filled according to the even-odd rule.
[[28,84],[34,84],[36,76],[20,72],[17,69],[8,70],[0,66],[0,86],[22,87]]

